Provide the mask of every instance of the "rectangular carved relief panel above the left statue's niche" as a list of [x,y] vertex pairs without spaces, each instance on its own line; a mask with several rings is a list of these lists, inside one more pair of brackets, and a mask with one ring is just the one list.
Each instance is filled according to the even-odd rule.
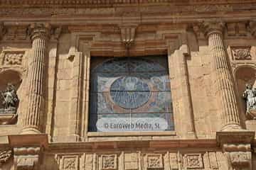
[[4,64],[21,65],[24,52],[4,52]]

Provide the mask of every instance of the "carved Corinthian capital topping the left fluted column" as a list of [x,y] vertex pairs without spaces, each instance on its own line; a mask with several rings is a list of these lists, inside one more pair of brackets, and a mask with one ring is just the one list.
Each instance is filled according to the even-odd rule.
[[28,28],[28,34],[31,40],[36,38],[46,38],[50,37],[50,24],[49,23],[32,23]]

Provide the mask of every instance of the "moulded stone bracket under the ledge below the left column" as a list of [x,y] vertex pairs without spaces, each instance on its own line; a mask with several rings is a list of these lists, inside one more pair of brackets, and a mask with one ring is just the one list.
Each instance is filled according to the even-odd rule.
[[14,148],[14,164],[16,170],[38,169],[38,161],[41,154],[40,147]]

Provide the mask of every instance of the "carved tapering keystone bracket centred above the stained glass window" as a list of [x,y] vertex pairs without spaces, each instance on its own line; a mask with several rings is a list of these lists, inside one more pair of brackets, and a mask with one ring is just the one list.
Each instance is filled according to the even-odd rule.
[[121,40],[126,49],[134,44],[137,25],[121,26]]

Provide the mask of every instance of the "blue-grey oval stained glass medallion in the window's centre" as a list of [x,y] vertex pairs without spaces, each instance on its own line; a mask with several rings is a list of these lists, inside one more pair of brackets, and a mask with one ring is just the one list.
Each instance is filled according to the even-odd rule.
[[138,77],[121,77],[110,86],[110,96],[122,108],[139,108],[150,98],[149,85]]

